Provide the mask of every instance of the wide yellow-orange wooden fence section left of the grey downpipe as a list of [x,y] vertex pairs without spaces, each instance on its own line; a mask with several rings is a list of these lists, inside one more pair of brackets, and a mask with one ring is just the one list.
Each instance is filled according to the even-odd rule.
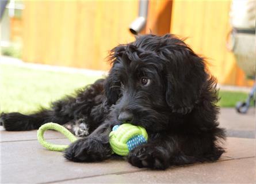
[[134,40],[137,1],[24,1],[26,62],[108,70],[108,51]]

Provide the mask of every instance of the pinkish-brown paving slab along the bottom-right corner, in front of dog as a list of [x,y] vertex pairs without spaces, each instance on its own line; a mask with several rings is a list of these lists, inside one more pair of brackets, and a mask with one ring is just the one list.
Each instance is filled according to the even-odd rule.
[[[166,171],[142,171],[121,174],[124,181],[139,179],[137,183],[255,183],[255,158],[227,160],[193,166],[174,167]],[[92,178],[90,178],[92,179]],[[90,179],[69,181],[69,183],[87,183]],[[98,179],[98,180],[97,180]],[[94,183],[104,182],[103,178],[94,178]]]

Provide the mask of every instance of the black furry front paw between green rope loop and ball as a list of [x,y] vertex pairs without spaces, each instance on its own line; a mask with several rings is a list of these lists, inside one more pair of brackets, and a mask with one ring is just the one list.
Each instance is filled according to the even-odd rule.
[[102,143],[100,137],[86,137],[70,144],[64,151],[64,157],[73,162],[94,162],[110,157],[109,144]]

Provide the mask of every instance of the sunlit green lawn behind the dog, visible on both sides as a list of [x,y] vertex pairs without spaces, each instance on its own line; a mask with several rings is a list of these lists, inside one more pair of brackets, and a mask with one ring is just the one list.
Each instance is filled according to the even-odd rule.
[[[1,112],[33,112],[40,106],[72,94],[76,89],[93,83],[97,77],[35,70],[1,64]],[[246,93],[220,91],[221,107],[234,107],[247,98]]]

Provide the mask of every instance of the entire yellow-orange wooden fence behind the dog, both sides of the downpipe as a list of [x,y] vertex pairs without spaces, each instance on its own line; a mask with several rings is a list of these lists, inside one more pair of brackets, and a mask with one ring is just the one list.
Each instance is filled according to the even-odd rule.
[[[24,1],[26,62],[108,70],[108,51],[133,41],[138,1]],[[251,85],[226,49],[230,1],[150,1],[143,33],[174,33],[210,60],[219,82]]]

